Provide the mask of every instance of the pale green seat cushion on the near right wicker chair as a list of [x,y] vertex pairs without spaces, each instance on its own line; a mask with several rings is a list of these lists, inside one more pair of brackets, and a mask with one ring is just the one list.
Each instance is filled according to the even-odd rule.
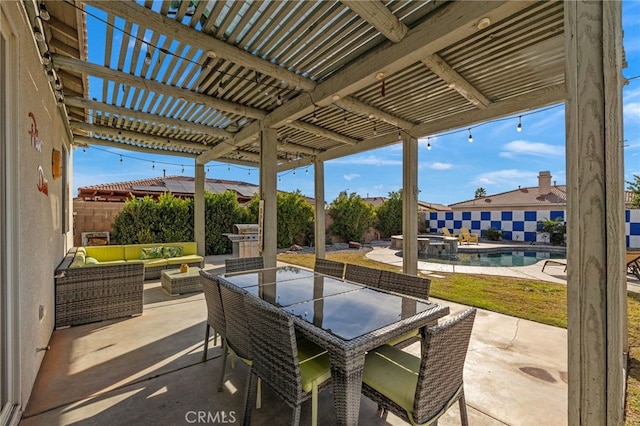
[[362,381],[404,408],[412,418],[419,370],[420,358],[383,345],[367,354]]

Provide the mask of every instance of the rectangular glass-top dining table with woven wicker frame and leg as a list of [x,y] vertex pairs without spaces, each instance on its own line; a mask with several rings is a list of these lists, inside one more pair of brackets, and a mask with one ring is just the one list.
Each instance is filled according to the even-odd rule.
[[367,351],[416,328],[433,325],[449,308],[295,266],[224,274],[292,315],[296,329],[329,353],[338,424],[355,425]]

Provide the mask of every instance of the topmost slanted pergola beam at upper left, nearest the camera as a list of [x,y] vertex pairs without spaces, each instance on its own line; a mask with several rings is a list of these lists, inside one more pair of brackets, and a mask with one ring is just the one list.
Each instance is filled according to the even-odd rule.
[[316,86],[312,80],[289,71],[256,55],[237,48],[227,42],[211,37],[180,22],[167,18],[151,9],[134,2],[88,0],[87,4],[97,7],[128,22],[136,23],[155,32],[172,36],[175,40],[188,44],[205,52],[214,52],[216,57],[224,58],[237,65],[250,68],[278,80],[284,80],[291,86],[310,91]]

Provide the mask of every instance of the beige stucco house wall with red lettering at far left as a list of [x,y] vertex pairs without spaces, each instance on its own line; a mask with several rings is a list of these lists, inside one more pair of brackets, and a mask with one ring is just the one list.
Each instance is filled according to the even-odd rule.
[[[54,327],[54,270],[71,246],[71,232],[63,232],[62,202],[66,190],[71,225],[72,151],[64,123],[45,69],[40,62],[30,24],[21,3],[3,2],[3,11],[13,24],[17,40],[17,156],[19,232],[19,328],[21,354],[21,404],[26,405]],[[29,114],[32,114],[34,120]],[[37,126],[40,149],[30,131]],[[63,179],[52,175],[52,149],[69,154],[66,189]],[[47,180],[48,194],[39,190]],[[40,307],[44,315],[40,318]]]

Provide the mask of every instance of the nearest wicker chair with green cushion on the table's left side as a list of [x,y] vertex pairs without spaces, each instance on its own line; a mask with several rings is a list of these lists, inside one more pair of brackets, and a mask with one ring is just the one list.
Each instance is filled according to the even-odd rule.
[[292,425],[300,423],[301,404],[311,398],[311,424],[318,424],[318,392],[330,383],[331,367],[324,348],[296,334],[291,316],[275,306],[250,298],[245,308],[251,318],[253,367],[243,424],[251,423],[256,378],[267,383],[293,408]]

